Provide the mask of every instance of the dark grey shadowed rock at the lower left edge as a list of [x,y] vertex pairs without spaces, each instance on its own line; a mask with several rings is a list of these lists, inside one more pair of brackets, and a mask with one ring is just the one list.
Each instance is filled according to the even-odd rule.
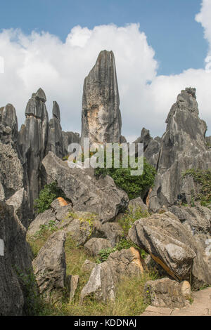
[[26,315],[29,309],[33,310],[33,301],[29,306],[27,296],[35,287],[28,282],[33,270],[25,236],[25,227],[13,216],[13,206],[0,202],[0,241],[3,248],[0,253],[1,316]]

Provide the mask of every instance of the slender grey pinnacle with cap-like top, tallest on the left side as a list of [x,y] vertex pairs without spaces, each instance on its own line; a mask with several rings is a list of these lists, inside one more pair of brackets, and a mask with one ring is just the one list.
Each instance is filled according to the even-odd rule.
[[49,116],[45,102],[46,95],[39,88],[27,103],[25,125],[21,126],[18,133],[18,144],[23,157],[31,209],[34,199],[39,194],[39,169],[48,143]]

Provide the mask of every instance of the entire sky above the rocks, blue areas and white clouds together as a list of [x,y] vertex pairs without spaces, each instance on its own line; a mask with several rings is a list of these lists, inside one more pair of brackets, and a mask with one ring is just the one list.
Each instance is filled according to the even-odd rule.
[[80,132],[84,77],[103,49],[115,54],[129,141],[143,127],[162,136],[187,86],[211,134],[211,0],[1,0],[0,106],[15,106],[20,127],[41,87],[49,117],[56,100],[63,129]]

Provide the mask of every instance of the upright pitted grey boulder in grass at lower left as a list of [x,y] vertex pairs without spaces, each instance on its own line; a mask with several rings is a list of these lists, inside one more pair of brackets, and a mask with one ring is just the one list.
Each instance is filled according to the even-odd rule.
[[63,230],[54,232],[33,260],[39,292],[46,301],[58,301],[65,289],[66,263]]

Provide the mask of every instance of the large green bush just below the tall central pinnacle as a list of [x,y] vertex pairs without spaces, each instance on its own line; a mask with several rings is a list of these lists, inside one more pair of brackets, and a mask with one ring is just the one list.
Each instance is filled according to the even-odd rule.
[[126,169],[122,168],[122,153],[120,153],[120,168],[114,167],[114,153],[112,158],[112,167],[110,169],[106,169],[106,154],[104,159],[104,168],[101,169],[98,167],[95,169],[95,176],[97,178],[99,178],[99,176],[103,176],[104,178],[106,175],[111,176],[117,187],[120,187],[122,190],[127,192],[129,199],[145,197],[149,188],[153,186],[156,171],[153,166],[148,164],[146,158],[143,158],[143,173],[141,176],[132,176],[131,171],[134,169],[132,169],[131,166],[128,166]]

